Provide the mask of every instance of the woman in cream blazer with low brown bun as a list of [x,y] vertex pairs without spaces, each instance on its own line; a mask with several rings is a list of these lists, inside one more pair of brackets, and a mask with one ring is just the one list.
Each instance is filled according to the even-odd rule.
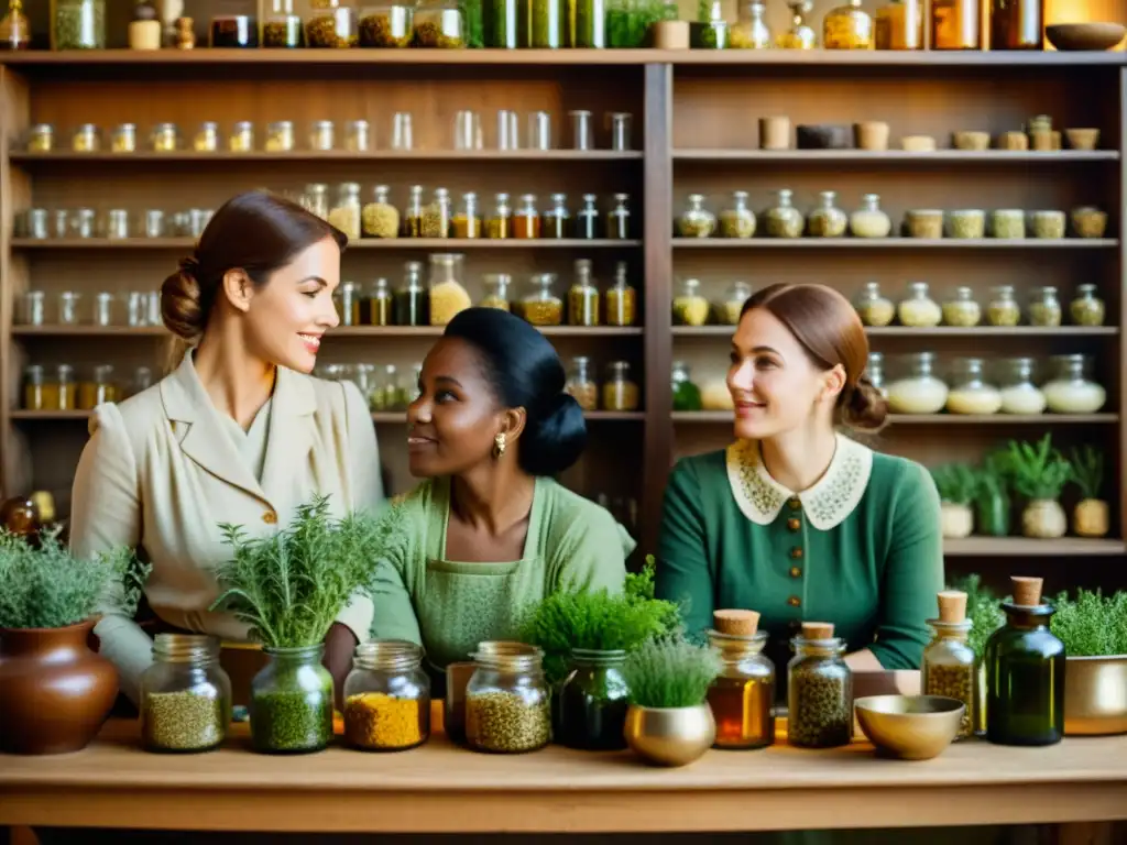
[[[165,326],[188,348],[179,366],[95,409],[71,545],[81,557],[137,549],[152,563],[145,595],[161,625],[246,639],[233,616],[207,610],[218,596],[212,569],[230,555],[220,523],[268,534],[318,495],[336,516],[383,498],[364,398],[308,375],[338,322],[332,291],[346,243],[286,199],[230,199],[161,286]],[[325,662],[338,686],[371,622],[372,603],[357,595],[330,630]],[[95,634],[136,701],[151,640],[112,606]]]

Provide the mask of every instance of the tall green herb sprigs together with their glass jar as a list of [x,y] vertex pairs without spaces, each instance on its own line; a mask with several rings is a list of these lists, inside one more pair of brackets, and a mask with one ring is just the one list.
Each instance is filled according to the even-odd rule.
[[212,610],[250,628],[266,666],[250,688],[250,737],[257,751],[317,751],[332,738],[332,677],[321,665],[325,637],[372,561],[399,539],[400,512],[329,515],[328,497],[298,508],[289,526],[247,537],[223,525],[232,557],[215,570],[222,590]]

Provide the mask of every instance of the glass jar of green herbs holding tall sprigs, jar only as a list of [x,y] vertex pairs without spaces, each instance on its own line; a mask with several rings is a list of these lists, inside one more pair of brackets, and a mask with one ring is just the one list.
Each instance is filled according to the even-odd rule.
[[260,754],[319,751],[332,739],[332,676],[325,647],[264,648],[250,683],[250,739]]

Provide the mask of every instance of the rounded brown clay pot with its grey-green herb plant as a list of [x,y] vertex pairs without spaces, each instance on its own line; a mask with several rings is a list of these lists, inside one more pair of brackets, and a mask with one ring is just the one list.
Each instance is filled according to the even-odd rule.
[[133,615],[149,568],[128,549],[76,560],[44,531],[38,548],[0,531],[0,751],[89,745],[117,696],[117,670],[88,644],[99,603]]

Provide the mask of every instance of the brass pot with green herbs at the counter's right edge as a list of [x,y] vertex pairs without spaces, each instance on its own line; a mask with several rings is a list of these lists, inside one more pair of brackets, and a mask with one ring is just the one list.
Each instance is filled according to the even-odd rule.
[[1062,593],[1049,628],[1064,643],[1064,732],[1127,733],[1127,593]]

